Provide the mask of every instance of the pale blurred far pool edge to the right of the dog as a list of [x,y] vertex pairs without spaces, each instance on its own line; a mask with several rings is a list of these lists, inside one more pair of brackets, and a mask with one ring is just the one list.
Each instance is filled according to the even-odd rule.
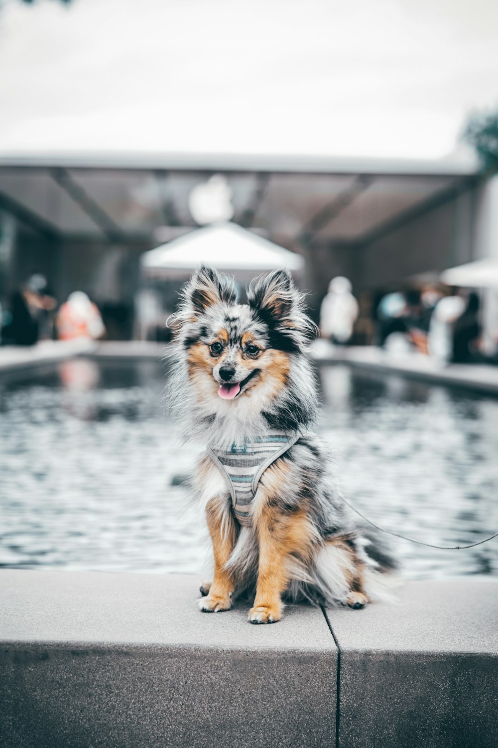
[[393,356],[375,346],[332,346],[327,340],[316,340],[310,354],[317,364],[348,364],[355,369],[401,374],[432,384],[449,384],[498,395],[498,366],[449,364],[441,367],[423,354]]

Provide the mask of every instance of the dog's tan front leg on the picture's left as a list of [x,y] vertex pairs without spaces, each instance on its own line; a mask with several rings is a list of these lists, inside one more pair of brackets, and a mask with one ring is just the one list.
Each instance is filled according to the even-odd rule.
[[[225,564],[234,550],[238,530],[225,498],[217,497],[209,501],[206,517],[213,543],[214,579],[211,585],[206,585],[208,589],[205,597],[199,600],[199,608],[204,613],[219,613],[221,610],[230,610],[232,604],[234,580]],[[203,594],[202,588],[201,593]]]

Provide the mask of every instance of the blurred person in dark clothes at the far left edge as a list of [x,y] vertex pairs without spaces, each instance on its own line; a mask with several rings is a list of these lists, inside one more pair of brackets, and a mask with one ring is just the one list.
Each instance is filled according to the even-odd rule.
[[47,291],[46,278],[39,273],[31,275],[10,298],[10,312],[1,335],[3,345],[34,346],[40,340],[40,328],[56,306],[57,301]]

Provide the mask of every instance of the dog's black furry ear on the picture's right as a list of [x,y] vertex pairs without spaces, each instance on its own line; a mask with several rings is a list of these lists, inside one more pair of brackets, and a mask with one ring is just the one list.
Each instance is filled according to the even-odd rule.
[[253,281],[247,301],[270,328],[275,347],[302,350],[316,334],[316,325],[305,312],[305,295],[296,289],[288,270],[274,270]]

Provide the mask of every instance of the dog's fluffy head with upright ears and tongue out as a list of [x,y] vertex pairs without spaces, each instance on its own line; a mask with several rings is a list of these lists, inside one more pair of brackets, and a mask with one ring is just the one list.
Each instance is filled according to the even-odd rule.
[[202,266],[175,315],[190,384],[199,404],[214,401],[213,411],[268,408],[314,334],[303,295],[286,270],[253,281],[247,300],[237,304],[234,282]]

